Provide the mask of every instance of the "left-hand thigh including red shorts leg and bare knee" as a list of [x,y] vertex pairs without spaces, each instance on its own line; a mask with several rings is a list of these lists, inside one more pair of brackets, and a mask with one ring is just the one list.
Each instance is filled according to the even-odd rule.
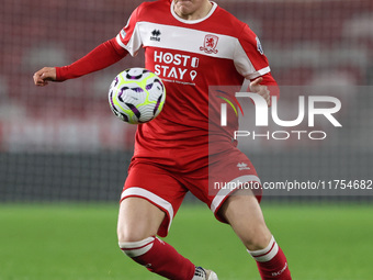
[[167,168],[133,160],[121,195],[120,239],[166,237],[187,191]]

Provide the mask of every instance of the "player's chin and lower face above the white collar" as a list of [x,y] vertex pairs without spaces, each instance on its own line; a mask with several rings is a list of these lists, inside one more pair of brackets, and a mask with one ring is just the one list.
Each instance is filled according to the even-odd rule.
[[212,8],[210,0],[173,0],[174,12],[184,20],[199,20]]

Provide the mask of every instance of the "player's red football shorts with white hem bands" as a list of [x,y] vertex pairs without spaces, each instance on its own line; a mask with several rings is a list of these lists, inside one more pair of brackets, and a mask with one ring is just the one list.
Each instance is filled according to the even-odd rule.
[[[137,197],[148,200],[166,213],[158,235],[166,237],[185,194],[190,191],[204,202],[223,222],[218,210],[239,183],[256,184],[253,193],[261,200],[261,184],[251,161],[239,149],[234,148],[210,157],[208,165],[190,171],[174,171],[167,166],[133,158],[128,169],[121,201]],[[259,188],[258,188],[259,186]]]

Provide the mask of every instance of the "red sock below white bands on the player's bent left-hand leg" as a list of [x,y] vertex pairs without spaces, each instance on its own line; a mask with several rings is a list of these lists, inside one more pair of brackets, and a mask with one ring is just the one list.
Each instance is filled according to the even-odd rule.
[[149,271],[173,280],[191,280],[195,266],[172,246],[156,238],[150,250],[133,258]]

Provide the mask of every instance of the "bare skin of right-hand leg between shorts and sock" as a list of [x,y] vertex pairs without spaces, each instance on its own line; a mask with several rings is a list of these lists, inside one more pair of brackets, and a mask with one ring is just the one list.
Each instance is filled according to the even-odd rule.
[[237,190],[223,203],[218,214],[227,221],[249,250],[265,248],[272,234],[268,229],[257,198],[250,190]]

